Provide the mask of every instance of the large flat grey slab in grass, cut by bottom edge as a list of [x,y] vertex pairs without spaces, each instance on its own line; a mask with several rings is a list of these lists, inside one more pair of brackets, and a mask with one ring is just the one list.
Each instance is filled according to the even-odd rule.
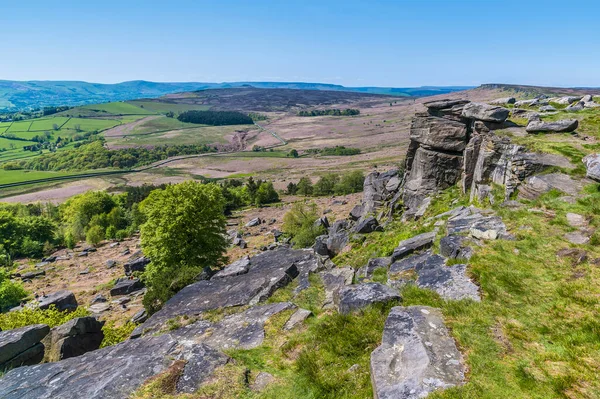
[[371,354],[371,381],[377,399],[424,398],[464,383],[462,355],[438,309],[392,308],[381,345]]

